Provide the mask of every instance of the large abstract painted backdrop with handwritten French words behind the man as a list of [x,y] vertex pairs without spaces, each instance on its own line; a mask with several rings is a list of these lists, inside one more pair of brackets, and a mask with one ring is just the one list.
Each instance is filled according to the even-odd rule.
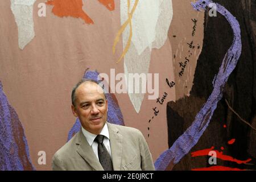
[[109,122],[141,130],[157,170],[256,169],[254,9],[251,0],[0,1],[0,170],[50,170],[80,129],[73,86],[102,74]]

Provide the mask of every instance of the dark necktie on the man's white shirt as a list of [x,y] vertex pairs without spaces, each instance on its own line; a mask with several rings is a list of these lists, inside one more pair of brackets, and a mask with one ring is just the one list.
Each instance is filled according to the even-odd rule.
[[94,139],[98,143],[98,159],[105,171],[113,171],[113,164],[108,150],[103,144],[104,135],[97,135]]

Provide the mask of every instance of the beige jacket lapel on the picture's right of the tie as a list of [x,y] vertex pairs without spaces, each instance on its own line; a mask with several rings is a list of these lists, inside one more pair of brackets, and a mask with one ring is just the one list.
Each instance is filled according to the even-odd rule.
[[123,136],[119,134],[118,129],[114,125],[112,125],[111,123],[107,124],[109,129],[113,168],[114,171],[120,171],[122,160]]

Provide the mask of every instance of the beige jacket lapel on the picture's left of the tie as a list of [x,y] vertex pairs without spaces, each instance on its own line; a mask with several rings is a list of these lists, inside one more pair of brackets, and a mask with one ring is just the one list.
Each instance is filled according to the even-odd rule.
[[79,155],[96,171],[103,171],[101,163],[98,161],[96,155],[94,154],[92,147],[87,142],[84,134],[80,130],[77,136],[77,152]]

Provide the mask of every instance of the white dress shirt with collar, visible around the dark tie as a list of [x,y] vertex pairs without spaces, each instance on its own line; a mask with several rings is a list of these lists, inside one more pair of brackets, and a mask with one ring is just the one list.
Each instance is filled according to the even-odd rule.
[[[90,133],[89,131],[85,130],[83,127],[82,127],[82,133],[84,134],[87,142],[92,147],[93,152],[98,159],[98,143],[96,141],[94,141],[94,139],[97,137],[97,135]],[[105,145],[106,149],[109,152],[110,157],[112,158],[110,142],[109,142],[109,129],[108,129],[108,125],[106,123],[105,123],[103,129],[101,130],[100,135],[105,136],[104,140],[103,140],[103,144]]]

